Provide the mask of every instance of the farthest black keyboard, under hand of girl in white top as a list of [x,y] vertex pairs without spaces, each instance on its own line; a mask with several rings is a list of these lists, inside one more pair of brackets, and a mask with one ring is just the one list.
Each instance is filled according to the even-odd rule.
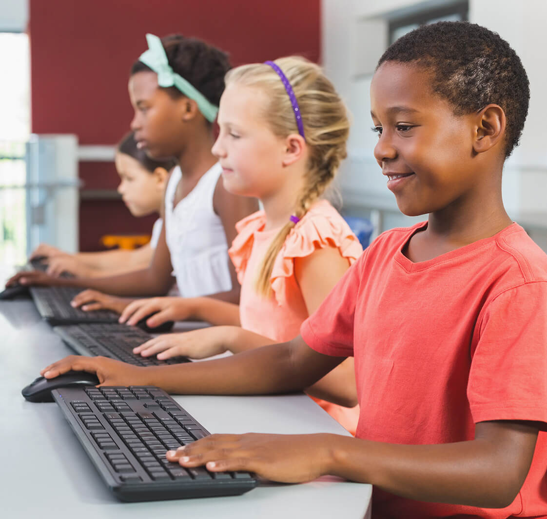
[[84,312],[80,308],[71,307],[72,299],[82,290],[72,286],[30,287],[39,314],[53,326],[78,322],[118,322],[119,315],[111,310]]

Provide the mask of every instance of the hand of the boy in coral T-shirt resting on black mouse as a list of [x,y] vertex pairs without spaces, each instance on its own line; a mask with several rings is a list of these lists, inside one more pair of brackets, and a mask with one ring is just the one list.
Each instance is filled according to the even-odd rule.
[[86,371],[95,373],[99,385],[149,385],[146,368],[132,366],[107,357],[85,357],[69,355],[40,371],[44,378],[55,378],[67,371]]

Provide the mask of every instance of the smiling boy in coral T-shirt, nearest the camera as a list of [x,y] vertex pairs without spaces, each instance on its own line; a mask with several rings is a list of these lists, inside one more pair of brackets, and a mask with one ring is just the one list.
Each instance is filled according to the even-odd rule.
[[545,518],[547,256],[501,189],[528,111],[526,72],[498,34],[439,22],[388,48],[370,95],[387,187],[404,214],[428,220],[380,235],[301,337],[185,366],[69,357],[45,376],[265,394],[306,387],[354,355],[357,438],[212,435],[167,458],[373,483],[377,518]]

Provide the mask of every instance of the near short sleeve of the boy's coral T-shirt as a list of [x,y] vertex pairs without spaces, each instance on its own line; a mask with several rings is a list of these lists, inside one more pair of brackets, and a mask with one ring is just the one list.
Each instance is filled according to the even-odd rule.
[[468,399],[475,423],[534,420],[547,430],[547,282],[505,290],[472,341]]

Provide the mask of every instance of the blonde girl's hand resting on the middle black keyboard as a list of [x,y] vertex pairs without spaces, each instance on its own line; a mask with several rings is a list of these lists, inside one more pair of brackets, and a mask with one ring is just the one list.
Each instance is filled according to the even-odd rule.
[[185,333],[164,333],[133,348],[133,353],[149,357],[158,354],[158,359],[184,356],[190,359],[206,359],[228,349],[233,326],[212,326]]

